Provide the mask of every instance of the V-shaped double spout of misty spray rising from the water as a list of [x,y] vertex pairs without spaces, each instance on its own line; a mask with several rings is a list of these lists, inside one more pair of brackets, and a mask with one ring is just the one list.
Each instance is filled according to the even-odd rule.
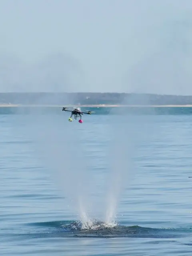
[[[102,220],[105,225],[114,226],[120,196],[134,172],[132,159],[137,143],[144,137],[146,117],[125,113],[123,119],[122,115],[116,115],[107,122],[110,138],[110,152],[106,159],[109,167],[106,177],[108,190],[102,196],[103,199],[106,195],[106,208],[103,209],[100,204],[100,212],[104,211]],[[36,156],[50,170],[84,228],[93,227],[96,223],[90,218],[91,204],[92,210],[95,208],[94,200],[90,198],[93,185],[90,175],[93,173],[87,164],[82,143],[86,131],[77,122],[71,126],[60,111],[58,115],[31,114],[27,121],[27,133],[34,142]]]

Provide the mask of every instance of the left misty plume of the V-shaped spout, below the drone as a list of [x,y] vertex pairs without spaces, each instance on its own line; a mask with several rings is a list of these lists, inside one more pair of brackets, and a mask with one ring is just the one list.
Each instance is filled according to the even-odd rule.
[[[42,104],[47,100],[41,98],[40,102]],[[33,142],[35,155],[70,200],[78,219],[89,222],[89,174],[80,141],[82,128],[78,122],[74,122],[73,127],[66,122],[68,116],[59,108],[58,115],[45,114],[41,109],[34,108],[26,117],[26,136]]]

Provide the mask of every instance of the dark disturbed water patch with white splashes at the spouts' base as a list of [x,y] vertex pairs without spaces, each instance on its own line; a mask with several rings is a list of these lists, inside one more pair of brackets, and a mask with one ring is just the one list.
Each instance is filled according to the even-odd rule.
[[42,233],[29,234],[31,237],[70,237],[70,238],[180,238],[188,236],[192,230],[186,228],[147,228],[141,226],[107,225],[94,222],[84,226],[79,221],[56,221],[31,223],[30,226],[46,228]]

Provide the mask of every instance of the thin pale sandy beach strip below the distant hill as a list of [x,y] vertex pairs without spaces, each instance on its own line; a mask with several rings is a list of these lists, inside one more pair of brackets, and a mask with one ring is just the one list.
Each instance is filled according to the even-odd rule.
[[[73,105],[20,105],[20,104],[0,104],[0,107],[68,107],[72,108]],[[192,107],[192,105],[78,105],[78,107]]]

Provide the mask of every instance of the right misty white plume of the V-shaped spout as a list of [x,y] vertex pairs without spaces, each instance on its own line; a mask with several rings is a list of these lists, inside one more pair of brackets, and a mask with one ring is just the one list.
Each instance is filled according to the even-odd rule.
[[[137,97],[138,100],[138,97]],[[124,99],[124,104],[133,104],[134,95]],[[140,95],[140,101],[148,102],[147,97]],[[150,109],[154,111],[154,109]],[[109,178],[106,198],[105,222],[112,224],[115,221],[118,203],[125,187],[128,186],[136,170],[135,159],[138,146],[144,139],[149,139],[151,132],[149,117],[143,113],[135,114],[133,110],[116,108],[116,114],[110,123],[111,142],[109,151]]]

